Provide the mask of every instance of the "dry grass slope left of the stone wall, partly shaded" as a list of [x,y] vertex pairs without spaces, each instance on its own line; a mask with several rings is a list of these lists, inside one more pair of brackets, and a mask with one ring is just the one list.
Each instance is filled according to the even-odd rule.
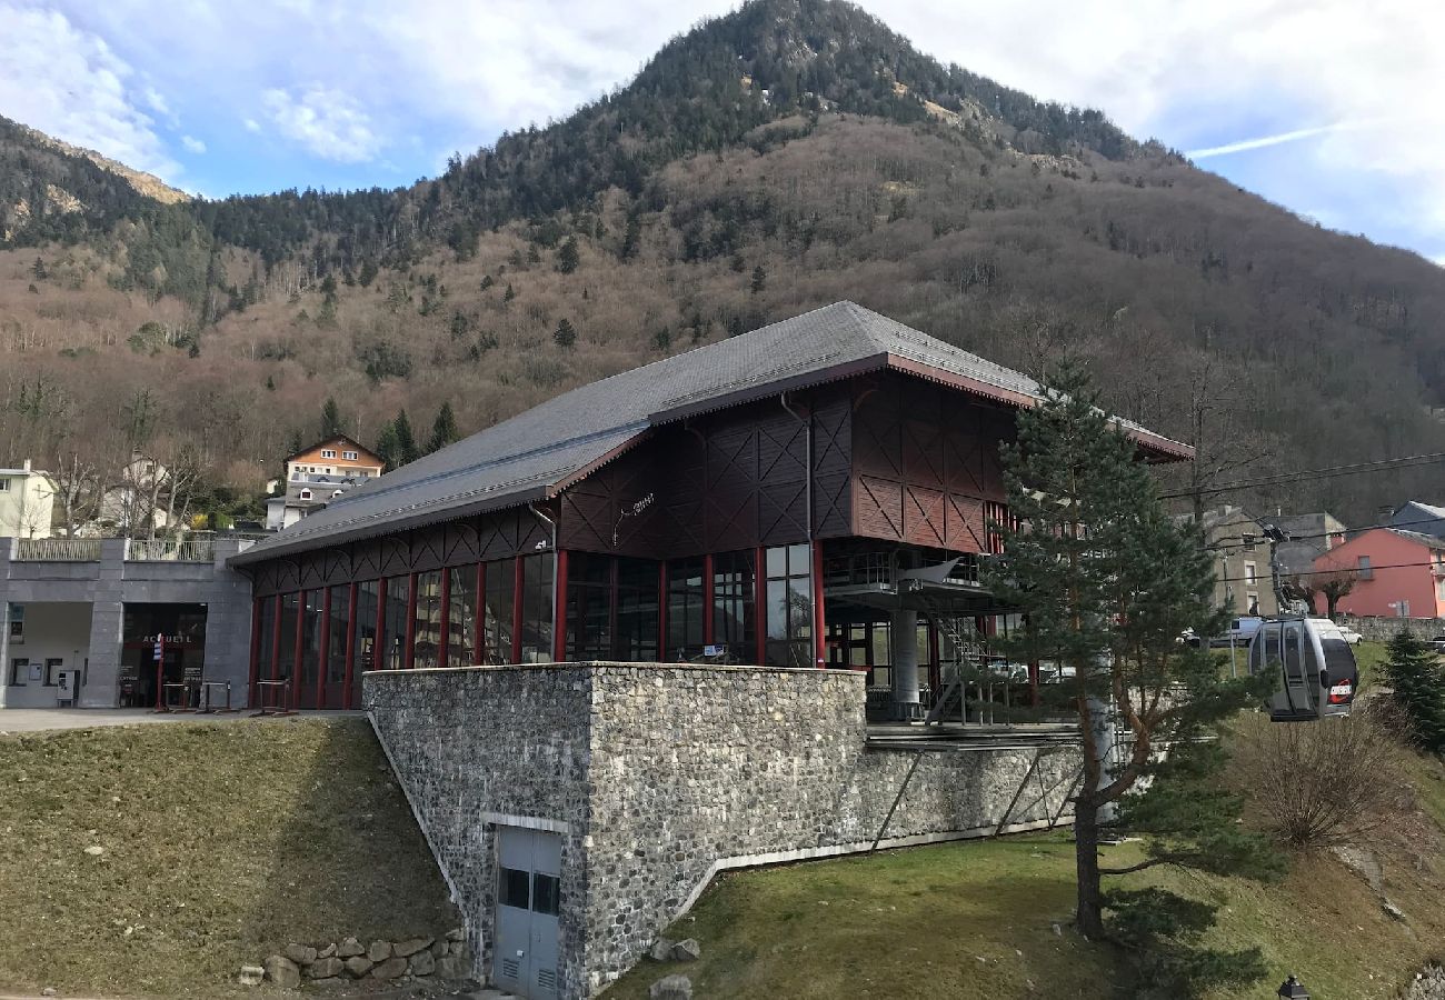
[[0,831],[0,991],[253,996],[289,941],[461,923],[360,718],[3,737]]

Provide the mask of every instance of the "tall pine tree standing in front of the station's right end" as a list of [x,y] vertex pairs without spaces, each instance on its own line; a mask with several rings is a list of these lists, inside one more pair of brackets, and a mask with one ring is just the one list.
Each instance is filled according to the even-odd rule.
[[[1178,864],[1276,874],[1277,855],[1237,825],[1241,805],[1218,788],[1222,756],[1201,740],[1257,701],[1263,681],[1221,679],[1207,649],[1176,642],[1186,627],[1204,636],[1222,627],[1209,556],[1189,526],[1168,516],[1136,444],[1100,410],[1088,380],[1062,368],[1043,403],[1019,412],[1017,428],[1017,444],[1004,448],[1016,520],[996,526],[1004,555],[988,564],[984,587],[1026,614],[1026,629],[1000,642],[1001,652],[1056,668],[1058,684],[1040,685],[1040,697],[1075,715],[1084,737],[1074,812],[1078,928],[1155,957],[1168,938],[1176,973],[1248,981],[1260,973],[1257,951],[1199,951],[1183,925],[1175,934],[1140,912],[1188,900],[1165,890],[1105,897],[1101,876],[1123,870],[1100,866],[1098,844],[1101,827],[1146,834],[1146,858],[1130,871]],[[1113,757],[1116,733],[1121,759]],[[1157,760],[1162,744],[1172,749]],[[1126,798],[1146,777],[1147,790]],[[1195,928],[1199,913],[1189,921]]]

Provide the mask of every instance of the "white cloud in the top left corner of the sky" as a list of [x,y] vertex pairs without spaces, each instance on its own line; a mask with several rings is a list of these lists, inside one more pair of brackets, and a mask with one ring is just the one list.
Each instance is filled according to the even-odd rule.
[[0,113],[127,166],[181,172],[140,110],[153,107],[147,88],[103,38],[64,13],[6,0],[0,25]]

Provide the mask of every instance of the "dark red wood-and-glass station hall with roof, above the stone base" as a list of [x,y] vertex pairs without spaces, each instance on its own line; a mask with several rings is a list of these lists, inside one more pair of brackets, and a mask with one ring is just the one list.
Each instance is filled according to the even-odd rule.
[[[851,302],[575,389],[234,558],[253,701],[256,679],[360,708],[371,669],[708,660],[867,671],[876,711],[920,717],[941,666],[1013,624],[978,559],[1038,399]],[[1149,461],[1191,455],[1120,425]]]

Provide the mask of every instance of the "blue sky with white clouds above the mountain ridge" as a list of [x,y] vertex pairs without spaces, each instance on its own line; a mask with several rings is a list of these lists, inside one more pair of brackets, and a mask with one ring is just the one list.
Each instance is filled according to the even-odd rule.
[[[1445,7],[864,0],[1331,228],[1445,263]],[[626,82],[725,0],[0,0],[0,114],[223,197],[394,186]]]

